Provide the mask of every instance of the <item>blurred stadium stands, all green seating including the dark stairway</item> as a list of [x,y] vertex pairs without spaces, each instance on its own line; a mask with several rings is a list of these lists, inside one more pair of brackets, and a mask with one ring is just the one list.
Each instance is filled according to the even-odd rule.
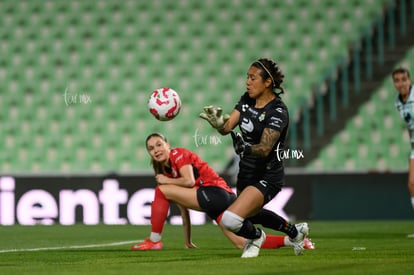
[[[286,159],[307,171],[406,170],[390,73],[413,70],[413,0],[0,2],[0,173],[151,171],[154,131],[218,171],[229,137],[198,118],[230,112],[258,58],[285,73]],[[170,122],[151,91],[179,92]]]

